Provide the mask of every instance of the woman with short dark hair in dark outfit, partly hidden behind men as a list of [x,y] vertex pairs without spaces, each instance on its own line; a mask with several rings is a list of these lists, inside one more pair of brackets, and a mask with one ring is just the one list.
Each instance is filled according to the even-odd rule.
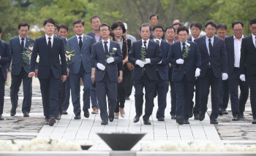
[[114,33],[113,41],[118,42],[123,54],[123,61],[121,63],[118,63],[118,71],[123,70],[123,77],[121,77],[121,72],[119,72],[119,77],[118,77],[118,96],[117,96],[117,104],[116,104],[116,110],[115,110],[115,113],[116,113],[115,118],[118,119],[119,107],[120,107],[121,117],[125,117],[125,112],[124,112],[125,91],[127,89],[126,88],[127,80],[129,76],[129,70],[127,69],[127,62],[128,62],[128,53],[132,47],[132,44],[130,39],[125,39],[122,36],[122,34],[126,32],[124,23],[117,21],[112,24],[111,29],[113,30],[113,33]]

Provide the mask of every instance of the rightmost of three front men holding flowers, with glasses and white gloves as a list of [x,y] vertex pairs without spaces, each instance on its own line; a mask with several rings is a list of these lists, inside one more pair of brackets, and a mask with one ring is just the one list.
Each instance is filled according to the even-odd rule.
[[189,29],[185,26],[178,27],[178,39],[170,46],[167,58],[173,67],[173,77],[176,95],[176,122],[179,125],[189,124],[189,106],[191,95],[195,86],[196,77],[200,76],[200,51],[194,42],[187,41]]

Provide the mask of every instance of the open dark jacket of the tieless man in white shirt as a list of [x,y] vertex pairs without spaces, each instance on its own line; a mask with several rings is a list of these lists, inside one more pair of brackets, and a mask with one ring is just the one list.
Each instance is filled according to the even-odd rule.
[[226,36],[224,41],[227,49],[228,75],[231,75],[233,74],[235,63],[234,35]]

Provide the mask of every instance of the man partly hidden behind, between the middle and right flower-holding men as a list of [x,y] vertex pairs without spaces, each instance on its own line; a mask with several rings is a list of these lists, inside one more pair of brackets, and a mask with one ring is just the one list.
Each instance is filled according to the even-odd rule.
[[165,108],[166,108],[166,95],[168,92],[168,62],[167,56],[170,50],[170,43],[162,39],[165,34],[165,29],[162,26],[154,26],[153,35],[154,42],[160,45],[162,60],[157,63],[157,85],[156,91],[158,95],[158,109],[157,119],[158,121],[165,121]]

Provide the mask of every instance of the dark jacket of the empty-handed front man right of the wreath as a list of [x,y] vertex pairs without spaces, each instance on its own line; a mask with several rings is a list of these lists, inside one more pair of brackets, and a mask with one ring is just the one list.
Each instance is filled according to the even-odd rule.
[[[38,79],[48,79],[50,68],[53,70],[54,77],[61,79],[61,75],[67,75],[67,62],[64,52],[63,39],[53,36],[53,47],[48,50],[45,35],[37,38],[34,42],[34,48],[30,60],[30,72],[34,72],[34,66],[39,55]],[[61,57],[61,63],[59,61]]]

